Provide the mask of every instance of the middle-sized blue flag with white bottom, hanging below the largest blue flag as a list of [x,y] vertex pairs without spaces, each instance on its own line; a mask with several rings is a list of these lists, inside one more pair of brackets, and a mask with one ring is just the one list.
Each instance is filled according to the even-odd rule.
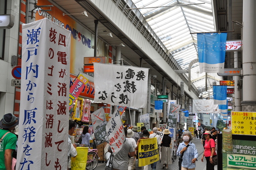
[[214,104],[227,104],[227,86],[213,86]]

